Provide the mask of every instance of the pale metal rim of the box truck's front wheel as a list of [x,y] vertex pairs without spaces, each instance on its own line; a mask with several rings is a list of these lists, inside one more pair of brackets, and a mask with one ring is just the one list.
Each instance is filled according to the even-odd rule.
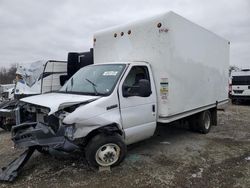
[[101,146],[95,155],[95,160],[100,166],[111,166],[116,163],[120,156],[120,147],[109,143]]

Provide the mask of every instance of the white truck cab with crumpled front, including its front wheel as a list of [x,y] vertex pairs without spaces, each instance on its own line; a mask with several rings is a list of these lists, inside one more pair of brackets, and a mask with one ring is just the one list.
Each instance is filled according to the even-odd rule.
[[[91,153],[86,154],[94,166],[120,162],[126,150],[121,152],[119,148],[151,137],[156,128],[156,90],[146,62],[86,66],[58,92],[21,101],[19,122],[12,129],[16,146],[69,152],[83,146],[97,147],[90,141],[97,138],[91,136],[109,132],[111,137],[98,138],[105,143],[113,138],[116,146],[106,145],[97,160]],[[104,157],[107,155],[115,159],[108,162]]]

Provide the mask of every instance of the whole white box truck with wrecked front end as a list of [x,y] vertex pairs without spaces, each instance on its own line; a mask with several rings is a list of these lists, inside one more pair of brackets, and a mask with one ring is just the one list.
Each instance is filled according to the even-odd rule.
[[173,12],[97,32],[94,65],[59,92],[21,99],[12,140],[117,165],[158,122],[188,118],[207,133],[228,101],[228,66],[227,40]]

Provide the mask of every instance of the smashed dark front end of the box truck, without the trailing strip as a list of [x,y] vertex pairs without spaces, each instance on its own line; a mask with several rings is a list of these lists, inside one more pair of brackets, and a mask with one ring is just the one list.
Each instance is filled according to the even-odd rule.
[[20,104],[16,112],[16,126],[12,127],[15,147],[36,147],[48,152],[73,152],[79,147],[73,143],[74,125],[62,123],[66,111],[49,115],[50,109],[29,103]]

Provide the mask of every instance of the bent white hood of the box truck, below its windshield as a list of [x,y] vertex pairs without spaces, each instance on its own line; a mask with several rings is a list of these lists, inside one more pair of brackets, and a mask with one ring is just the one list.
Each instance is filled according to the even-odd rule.
[[50,109],[50,115],[58,111],[60,106],[72,106],[74,104],[88,102],[98,98],[100,98],[100,96],[76,95],[69,93],[47,93],[26,97],[21,99],[21,101],[47,107]]

